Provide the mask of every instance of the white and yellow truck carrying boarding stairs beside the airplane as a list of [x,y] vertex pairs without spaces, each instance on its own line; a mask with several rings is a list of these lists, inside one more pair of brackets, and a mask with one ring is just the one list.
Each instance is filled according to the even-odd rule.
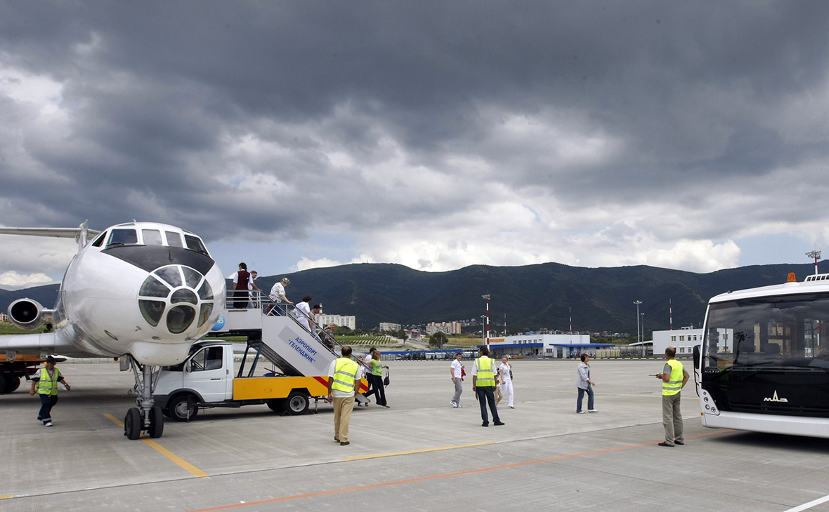
[[[187,421],[199,409],[266,404],[274,412],[296,415],[308,412],[311,399],[315,406],[327,399],[328,366],[340,357],[333,337],[326,337],[325,343],[309,333],[286,304],[267,299],[255,304],[259,307],[228,309],[224,322],[220,319],[210,334],[247,337],[238,371],[234,344],[210,338],[195,343],[182,364],[158,371],[155,400],[164,414]],[[263,359],[275,366],[274,371],[255,376]],[[366,390],[363,379],[360,393]]]

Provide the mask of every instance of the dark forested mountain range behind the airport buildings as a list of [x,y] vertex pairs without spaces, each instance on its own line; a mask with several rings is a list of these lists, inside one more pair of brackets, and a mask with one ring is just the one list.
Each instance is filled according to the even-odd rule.
[[[823,266],[821,262],[820,266]],[[492,331],[501,333],[506,316],[509,333],[539,328],[580,332],[636,333],[637,308],[644,331],[693,325],[701,327],[710,297],[733,289],[774,285],[814,272],[812,264],[744,266],[697,274],[652,266],[584,268],[559,263],[530,266],[473,265],[447,272],[424,272],[391,263],[356,263],[260,276],[268,293],[288,277],[288,299],[304,295],[321,303],[324,313],[354,315],[358,328],[381,322],[403,325],[453,320],[481,321],[482,295],[489,294]],[[0,311],[13,300],[55,304],[58,285],[0,289]],[[479,325],[479,324],[478,324]]]

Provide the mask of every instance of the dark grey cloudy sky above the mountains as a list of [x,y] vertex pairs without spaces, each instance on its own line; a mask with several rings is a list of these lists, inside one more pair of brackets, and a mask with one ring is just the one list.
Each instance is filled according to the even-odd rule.
[[[829,251],[829,2],[0,2],[0,225],[225,274]],[[74,242],[2,236],[0,285]],[[829,254],[829,253],[827,253]]]

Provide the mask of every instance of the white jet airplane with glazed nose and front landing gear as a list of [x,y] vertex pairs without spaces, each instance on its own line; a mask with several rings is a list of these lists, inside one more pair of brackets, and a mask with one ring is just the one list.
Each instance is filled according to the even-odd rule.
[[120,358],[135,376],[136,404],[124,418],[124,435],[160,438],[162,410],[153,399],[153,367],[187,358],[191,345],[225,310],[225,277],[201,238],[180,227],[132,222],[91,230],[2,227],[0,234],[74,237],[78,252],[66,269],[53,309],[17,299],[8,316],[51,333],[0,336],[0,352]]

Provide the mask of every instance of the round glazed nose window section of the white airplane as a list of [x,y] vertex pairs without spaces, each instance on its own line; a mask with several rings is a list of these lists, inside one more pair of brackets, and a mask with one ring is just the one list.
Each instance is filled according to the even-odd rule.
[[154,328],[181,334],[196,323],[201,328],[214,307],[213,289],[205,275],[188,266],[153,270],[138,291],[138,309]]

